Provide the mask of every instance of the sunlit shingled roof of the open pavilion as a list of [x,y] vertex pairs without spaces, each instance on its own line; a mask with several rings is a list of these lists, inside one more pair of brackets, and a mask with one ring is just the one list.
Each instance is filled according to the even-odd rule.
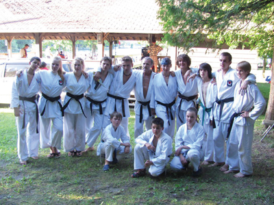
[[52,39],[58,39],[56,33],[63,33],[63,38],[82,33],[84,39],[95,33],[162,36],[157,11],[155,0],[0,0],[0,33],[25,33],[31,38],[33,33],[51,33]]

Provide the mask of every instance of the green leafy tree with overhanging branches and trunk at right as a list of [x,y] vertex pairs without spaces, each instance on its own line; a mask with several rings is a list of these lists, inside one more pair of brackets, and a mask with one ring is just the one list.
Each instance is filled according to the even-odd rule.
[[[231,49],[248,46],[260,57],[273,55],[273,0],[156,0],[160,5],[164,40],[189,51],[212,39],[212,48],[227,44]],[[208,46],[210,46],[208,44]],[[266,120],[274,120],[273,80]]]

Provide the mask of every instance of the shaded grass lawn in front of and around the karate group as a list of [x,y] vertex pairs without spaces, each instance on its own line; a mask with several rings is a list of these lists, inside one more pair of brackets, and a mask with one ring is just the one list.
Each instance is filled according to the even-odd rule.
[[[190,165],[182,173],[168,166],[166,176],[131,178],[133,154],[112,165],[110,172],[102,171],[95,152],[69,157],[61,151],[60,159],[47,159],[49,150],[40,149],[38,160],[20,165],[14,115],[7,111],[0,109],[0,204],[274,204],[273,131],[260,142],[264,115],[255,125],[251,177],[237,179],[219,167],[204,166],[202,176],[192,178]],[[134,111],[131,114],[133,137]]]

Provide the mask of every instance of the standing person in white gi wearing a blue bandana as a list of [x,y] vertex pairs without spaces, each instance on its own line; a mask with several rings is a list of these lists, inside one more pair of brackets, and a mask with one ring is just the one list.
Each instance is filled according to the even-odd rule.
[[165,57],[161,61],[162,73],[156,74],[151,94],[151,113],[164,120],[164,133],[173,139],[175,130],[175,101],[177,82],[171,77],[171,59]]

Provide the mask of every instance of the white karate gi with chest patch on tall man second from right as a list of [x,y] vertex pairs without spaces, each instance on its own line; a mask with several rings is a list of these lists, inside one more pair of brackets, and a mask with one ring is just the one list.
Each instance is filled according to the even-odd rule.
[[[213,76],[216,77],[217,90],[218,90],[218,99],[223,100],[225,98],[234,97],[234,90],[236,83],[239,79],[236,74],[236,70],[229,67],[227,73],[223,77],[222,72],[214,72]],[[251,81],[255,83],[256,77],[253,74],[249,74],[249,77],[245,81]],[[216,128],[213,130],[213,141],[214,141],[214,162],[222,163],[225,161],[226,164],[229,164],[224,152],[224,143],[227,136],[227,128],[229,126],[229,119],[234,113],[232,109],[232,102],[225,102],[223,105],[223,113],[219,116],[221,105],[214,103],[212,107],[212,112],[210,115],[214,116]],[[212,116],[210,117],[212,119]],[[231,140],[230,140],[231,141]],[[229,149],[229,143],[227,143],[227,150]],[[234,150],[233,152],[237,152]],[[227,152],[228,153],[228,152]]]

